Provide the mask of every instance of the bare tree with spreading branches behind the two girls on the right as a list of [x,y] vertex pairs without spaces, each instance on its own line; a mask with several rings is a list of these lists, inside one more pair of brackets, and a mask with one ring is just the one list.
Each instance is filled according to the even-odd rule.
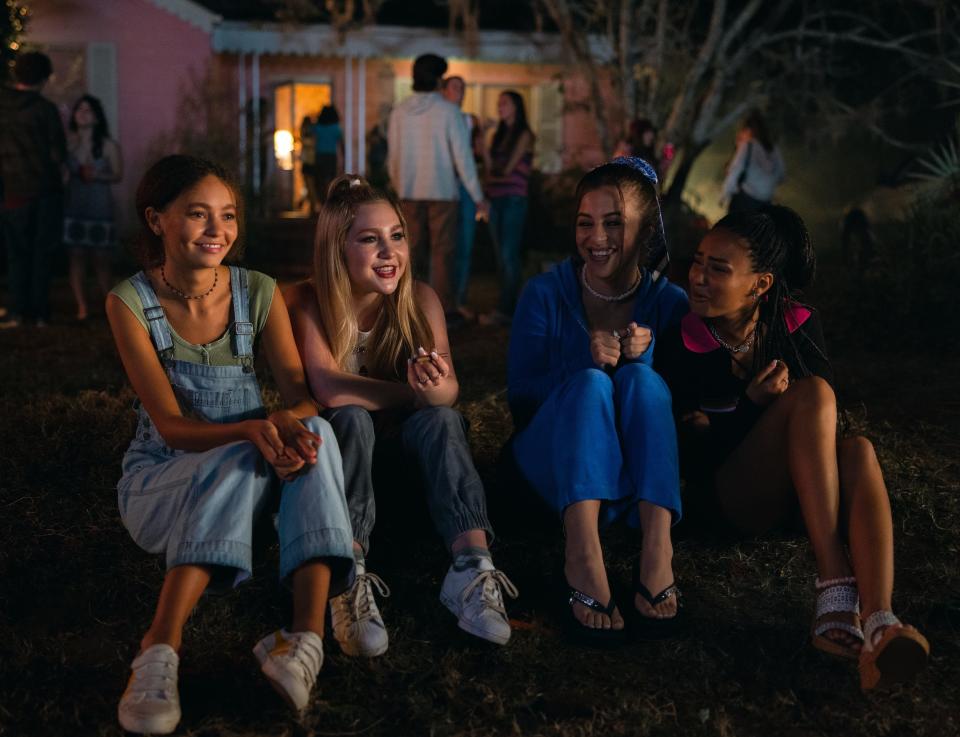
[[[857,118],[888,141],[883,94],[929,72],[936,39],[956,21],[938,0],[536,0],[556,26],[568,59],[587,80],[600,144],[609,154],[624,122],[642,115],[680,153],[665,194],[676,204],[699,154],[754,107],[815,109],[831,124]],[[849,5],[849,7],[847,7]],[[910,11],[906,22],[893,10]],[[883,19],[883,20],[880,20]],[[897,80],[874,99],[830,94],[851,73],[852,49],[895,54]],[[608,91],[605,88],[610,88]]]

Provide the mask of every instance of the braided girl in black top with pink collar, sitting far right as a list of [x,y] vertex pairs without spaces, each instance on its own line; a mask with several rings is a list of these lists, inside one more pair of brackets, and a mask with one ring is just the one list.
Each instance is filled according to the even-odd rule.
[[728,520],[760,532],[799,504],[817,562],[813,644],[859,659],[870,689],[912,677],[929,647],[891,612],[893,523],[880,465],[866,438],[837,438],[819,319],[794,300],[814,266],[792,210],[728,215],[698,247],[691,312],[656,358],[681,434],[705,440]]

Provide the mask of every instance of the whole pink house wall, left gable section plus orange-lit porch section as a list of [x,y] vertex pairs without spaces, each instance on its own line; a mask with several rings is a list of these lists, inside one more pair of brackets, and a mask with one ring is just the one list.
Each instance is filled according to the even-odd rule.
[[[211,131],[235,136],[237,132],[237,56],[215,55],[210,34],[162,10],[149,0],[45,0],[36,3],[28,26],[27,41],[51,50],[76,50],[83,54],[89,44],[112,44],[116,51],[117,130],[123,150],[123,181],[114,188],[118,220],[127,231],[134,225],[133,193],[150,161],[162,151],[158,140],[192,121],[179,120],[184,91],[196,94],[198,77],[212,72],[217,90],[215,105],[222,108],[218,125],[229,131]],[[412,59],[369,59],[366,64],[366,114],[363,127],[369,131],[383,120],[393,104],[394,81],[409,77]],[[345,111],[344,61],[331,57],[263,55],[260,57],[261,95],[271,101],[276,84],[290,80],[327,78],[333,83],[334,102]],[[249,67],[248,67],[249,68]],[[356,70],[356,67],[355,67]],[[461,74],[481,84],[533,85],[561,77],[555,65],[503,64],[451,60],[449,73]],[[249,74],[249,73],[248,73]],[[250,79],[248,76],[247,84]],[[67,103],[86,92],[82,78],[61,90]],[[76,87],[76,89],[73,89]],[[564,78],[569,103],[586,96],[582,81]],[[355,101],[356,104],[356,101]],[[591,166],[602,153],[592,117],[576,105],[563,115],[563,160],[565,166]],[[194,129],[206,118],[197,111]],[[269,128],[272,114],[265,121]],[[264,138],[272,132],[265,130]],[[221,136],[222,137],[222,136]],[[267,157],[271,157],[269,146]],[[237,162],[239,163],[239,161]],[[268,175],[273,162],[262,162]]]

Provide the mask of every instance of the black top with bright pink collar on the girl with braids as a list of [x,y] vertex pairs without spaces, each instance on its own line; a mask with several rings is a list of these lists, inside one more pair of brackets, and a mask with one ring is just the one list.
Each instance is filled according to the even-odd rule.
[[[833,385],[833,369],[817,313],[791,302],[784,317],[796,354],[788,348],[775,357],[787,364],[792,378],[820,376]],[[700,411],[710,419],[710,455],[717,464],[740,444],[763,414],[764,407],[747,397],[750,378],[733,373],[730,354],[713,337],[703,318],[693,312],[681,320],[678,328],[659,338],[655,368],[670,387],[677,418]]]

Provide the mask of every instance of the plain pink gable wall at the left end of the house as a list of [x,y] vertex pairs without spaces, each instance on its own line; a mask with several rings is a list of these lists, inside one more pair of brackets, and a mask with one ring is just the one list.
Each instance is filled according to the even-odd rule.
[[[45,0],[31,10],[30,44],[115,44],[118,140],[125,166],[114,194],[121,224],[130,225],[133,192],[150,163],[151,141],[176,122],[184,81],[206,70],[213,56],[210,36],[147,0]],[[84,92],[77,89],[76,97]]]

